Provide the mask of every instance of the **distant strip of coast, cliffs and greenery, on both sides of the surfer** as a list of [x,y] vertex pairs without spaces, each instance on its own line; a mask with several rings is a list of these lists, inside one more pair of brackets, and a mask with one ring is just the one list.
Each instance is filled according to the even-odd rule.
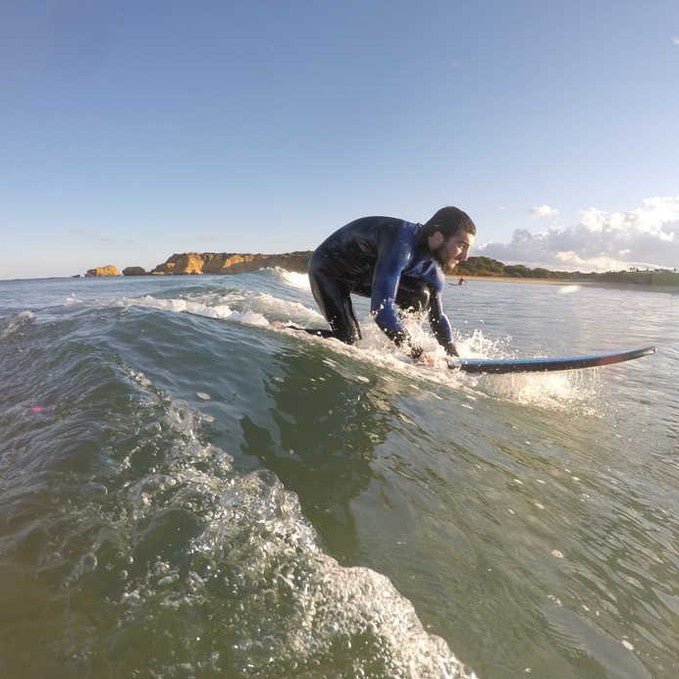
[[[200,274],[230,274],[256,269],[281,267],[289,271],[305,273],[311,250],[281,254],[248,254],[234,252],[186,252],[177,253],[151,271],[133,266],[123,269],[125,276],[181,276]],[[87,277],[119,276],[118,269],[106,265],[88,269]],[[490,257],[470,257],[453,271],[450,278],[516,283],[552,283],[578,285],[607,285],[637,287],[644,290],[679,292],[679,272],[657,269],[641,271],[606,271],[604,273],[582,271],[551,271],[541,267],[530,268],[523,264],[504,264]],[[79,276],[76,276],[79,277]]]

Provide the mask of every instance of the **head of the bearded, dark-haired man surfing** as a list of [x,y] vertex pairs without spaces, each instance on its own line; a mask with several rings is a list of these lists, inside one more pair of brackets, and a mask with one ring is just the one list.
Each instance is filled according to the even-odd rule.
[[444,268],[452,270],[458,262],[464,262],[474,245],[476,226],[462,210],[442,207],[422,227],[432,257]]

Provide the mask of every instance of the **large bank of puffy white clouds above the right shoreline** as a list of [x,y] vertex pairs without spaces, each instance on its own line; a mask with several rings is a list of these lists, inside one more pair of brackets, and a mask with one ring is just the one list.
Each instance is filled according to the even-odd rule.
[[517,229],[480,253],[506,263],[581,271],[679,267],[679,195],[648,198],[627,212],[588,208],[577,224],[540,233]]

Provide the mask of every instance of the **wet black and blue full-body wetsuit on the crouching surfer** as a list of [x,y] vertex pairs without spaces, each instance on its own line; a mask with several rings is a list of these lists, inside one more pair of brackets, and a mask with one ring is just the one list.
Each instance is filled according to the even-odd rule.
[[428,310],[436,339],[456,355],[452,328],[443,313],[443,271],[432,258],[421,224],[394,217],[363,217],[335,231],[309,262],[314,299],[332,335],[353,344],[361,331],[350,294],[370,297],[375,322],[397,345],[413,346],[398,309]]

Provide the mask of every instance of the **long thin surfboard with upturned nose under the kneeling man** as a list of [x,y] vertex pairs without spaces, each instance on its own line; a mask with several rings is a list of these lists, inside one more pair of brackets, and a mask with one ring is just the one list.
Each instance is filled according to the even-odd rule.
[[[297,325],[285,326],[288,330],[296,330],[317,337],[332,337],[329,328],[301,328]],[[654,354],[653,346],[639,349],[627,349],[610,353],[588,354],[585,356],[559,356],[553,358],[451,358],[448,367],[451,370],[462,370],[468,373],[488,373],[502,375],[506,373],[555,372],[559,370],[581,370],[597,368],[614,363],[632,361],[635,358]]]

